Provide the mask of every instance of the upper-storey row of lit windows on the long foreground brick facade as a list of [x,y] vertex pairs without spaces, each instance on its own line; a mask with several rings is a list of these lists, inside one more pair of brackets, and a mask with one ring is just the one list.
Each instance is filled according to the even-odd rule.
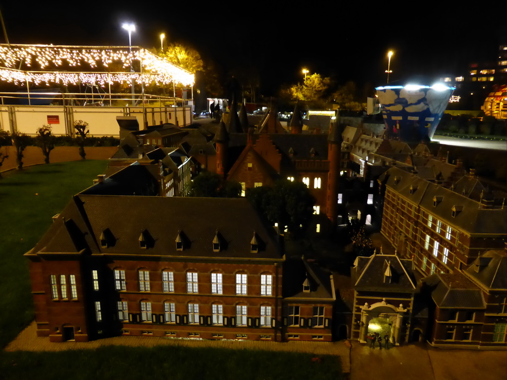
[[[97,271],[92,271],[92,277],[97,281],[97,286],[94,286],[94,290],[98,290],[98,278]],[[121,269],[115,269],[115,289],[117,291],[124,291],[127,289],[125,280],[125,271]],[[139,291],[149,292],[150,291],[150,272],[146,270],[138,271],[138,283]],[[236,274],[236,294],[246,295],[248,285],[248,276],[246,274]],[[273,293],[273,276],[272,275],[261,275],[261,295],[270,296]],[[162,290],[164,292],[174,292],[174,272],[163,271],[162,272]],[[199,275],[197,272],[187,272],[187,293],[199,293]],[[222,273],[211,273],[211,293],[212,294],[223,294],[223,274]]]

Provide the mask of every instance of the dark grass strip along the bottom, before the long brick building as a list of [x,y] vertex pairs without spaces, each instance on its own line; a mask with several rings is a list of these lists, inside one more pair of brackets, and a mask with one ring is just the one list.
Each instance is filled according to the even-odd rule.
[[340,359],[303,353],[159,346],[105,346],[64,352],[4,352],[0,378],[106,379],[336,379]]

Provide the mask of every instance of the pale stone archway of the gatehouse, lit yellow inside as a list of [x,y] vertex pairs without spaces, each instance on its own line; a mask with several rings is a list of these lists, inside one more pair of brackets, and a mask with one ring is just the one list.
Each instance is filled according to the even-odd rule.
[[[400,345],[402,332],[402,321],[407,309],[400,304],[399,307],[390,305],[382,299],[382,302],[361,306],[361,321],[359,328],[359,341],[366,343],[366,335],[369,332],[375,332],[375,329],[389,329],[389,341],[396,346]],[[372,324],[370,328],[370,323]],[[386,327],[387,325],[387,327]],[[371,331],[370,331],[371,330]],[[379,332],[379,331],[377,331]],[[385,334],[385,333],[384,333]]]

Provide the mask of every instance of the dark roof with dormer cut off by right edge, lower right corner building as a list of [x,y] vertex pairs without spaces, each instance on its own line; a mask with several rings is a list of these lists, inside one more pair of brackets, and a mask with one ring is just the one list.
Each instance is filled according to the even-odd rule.
[[479,256],[465,273],[488,290],[507,290],[507,251],[487,251]]

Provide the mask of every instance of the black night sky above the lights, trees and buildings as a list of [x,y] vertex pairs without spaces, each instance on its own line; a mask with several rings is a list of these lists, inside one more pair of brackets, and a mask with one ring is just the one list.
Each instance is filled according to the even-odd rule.
[[[11,44],[127,46],[121,24],[131,21],[137,27],[132,45],[159,47],[165,32],[169,42],[193,46],[205,62],[214,61],[224,81],[238,67],[259,70],[265,95],[302,81],[304,66],[337,84],[384,85],[390,49],[390,84],[432,84],[423,82],[464,74],[473,60],[496,59],[507,40],[504,2],[496,11],[415,2],[390,10],[367,2],[319,8],[312,2],[179,3],[11,1],[0,9]],[[0,41],[5,43],[3,34]]]

